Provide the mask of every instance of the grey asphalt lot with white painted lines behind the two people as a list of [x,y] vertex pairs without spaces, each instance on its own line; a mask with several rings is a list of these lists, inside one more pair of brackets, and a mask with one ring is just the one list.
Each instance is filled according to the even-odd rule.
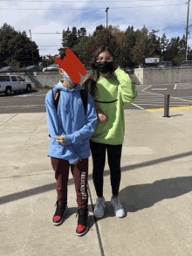
[[[165,94],[170,94],[169,107],[192,106],[192,85],[136,86],[137,98],[124,109],[154,109],[164,107]],[[31,93],[0,93],[0,114],[46,112],[45,96],[50,89],[34,89]]]

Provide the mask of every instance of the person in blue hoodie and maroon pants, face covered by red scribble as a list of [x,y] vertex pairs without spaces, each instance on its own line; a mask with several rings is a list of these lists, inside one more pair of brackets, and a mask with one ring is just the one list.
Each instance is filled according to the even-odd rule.
[[69,166],[75,183],[78,203],[78,226],[76,234],[82,236],[88,231],[88,157],[90,154],[89,140],[97,125],[97,114],[94,101],[88,93],[86,115],[80,96],[82,87],[73,83],[71,78],[59,68],[63,74],[63,80],[53,86],[54,98],[57,98],[57,90],[60,89],[58,111],[53,103],[52,92],[46,94],[45,106],[47,124],[50,133],[51,165],[55,171],[56,189],[58,200],[57,209],[52,218],[53,225],[60,225],[64,221],[67,211],[67,183]]

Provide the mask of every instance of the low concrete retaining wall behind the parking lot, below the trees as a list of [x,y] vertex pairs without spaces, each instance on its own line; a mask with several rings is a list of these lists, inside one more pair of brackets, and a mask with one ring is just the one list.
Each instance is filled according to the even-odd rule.
[[[90,70],[86,70],[86,75]],[[0,73],[0,75],[9,73]],[[10,73],[21,76],[24,80],[31,82],[33,86],[53,86],[58,84],[62,79],[62,75],[56,72],[36,72],[36,73]],[[141,82],[141,85],[155,84],[175,84],[192,82],[192,66],[168,66],[168,67],[145,67],[135,68],[134,74]],[[86,76],[81,76],[81,83]]]

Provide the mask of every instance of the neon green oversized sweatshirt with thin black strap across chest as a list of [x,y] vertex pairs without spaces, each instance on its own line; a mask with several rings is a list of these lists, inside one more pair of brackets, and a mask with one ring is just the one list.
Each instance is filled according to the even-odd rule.
[[[111,79],[99,76],[96,86],[99,95],[96,93],[96,96],[93,96],[94,106],[96,110],[106,114],[108,121],[103,123],[97,120],[97,126],[90,140],[110,145],[122,144],[125,135],[123,106],[134,102],[137,97],[136,87],[129,75],[120,68],[114,71]],[[88,91],[90,92],[90,83]]]

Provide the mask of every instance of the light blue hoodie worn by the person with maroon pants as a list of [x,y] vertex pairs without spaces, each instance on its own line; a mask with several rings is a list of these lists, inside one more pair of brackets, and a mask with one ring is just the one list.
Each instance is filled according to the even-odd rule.
[[[97,114],[94,101],[88,93],[85,117],[85,110],[80,97],[80,90],[82,89],[80,84],[70,90],[59,81],[58,85],[53,86],[54,96],[57,89],[60,89],[58,113],[53,103],[51,91],[46,94],[45,98],[47,126],[51,135],[49,156],[68,160],[72,164],[79,157],[85,159],[91,156],[89,140],[97,125]],[[56,135],[65,135],[65,146],[56,142]]]

